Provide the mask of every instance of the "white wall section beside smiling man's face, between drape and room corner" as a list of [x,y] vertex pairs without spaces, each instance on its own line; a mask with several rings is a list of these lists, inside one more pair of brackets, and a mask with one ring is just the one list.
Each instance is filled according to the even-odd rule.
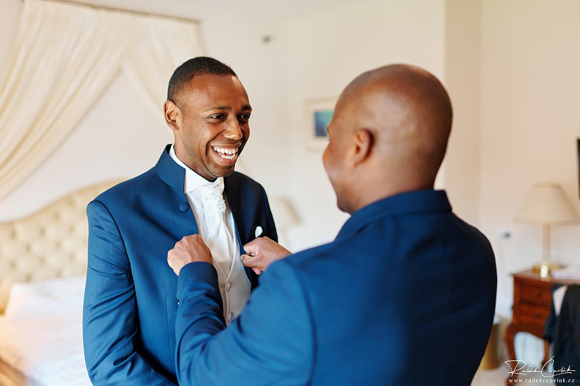
[[[252,105],[250,137],[237,169],[261,183],[270,196],[285,195],[286,37],[282,20],[208,12],[200,26],[206,54],[229,64]],[[264,37],[269,37],[264,42]]]

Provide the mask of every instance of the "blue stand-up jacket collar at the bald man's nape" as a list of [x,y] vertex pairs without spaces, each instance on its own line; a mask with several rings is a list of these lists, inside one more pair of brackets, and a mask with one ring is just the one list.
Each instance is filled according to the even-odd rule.
[[418,190],[383,198],[353,213],[338,232],[336,240],[357,234],[380,217],[430,212],[451,212],[445,191]]

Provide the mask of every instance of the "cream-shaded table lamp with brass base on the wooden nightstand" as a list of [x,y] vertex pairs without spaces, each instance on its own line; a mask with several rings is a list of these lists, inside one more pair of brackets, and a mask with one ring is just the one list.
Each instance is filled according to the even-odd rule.
[[578,213],[565,196],[560,184],[537,183],[516,214],[520,223],[542,225],[542,263],[534,265],[542,278],[558,268],[550,259],[550,225],[571,225],[580,221]]

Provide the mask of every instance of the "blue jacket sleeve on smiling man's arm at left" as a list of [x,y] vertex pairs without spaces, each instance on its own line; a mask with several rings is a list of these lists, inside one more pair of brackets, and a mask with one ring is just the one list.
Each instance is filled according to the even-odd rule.
[[107,207],[90,202],[88,271],[82,315],[85,362],[95,386],[174,385],[140,356],[135,287],[125,245]]

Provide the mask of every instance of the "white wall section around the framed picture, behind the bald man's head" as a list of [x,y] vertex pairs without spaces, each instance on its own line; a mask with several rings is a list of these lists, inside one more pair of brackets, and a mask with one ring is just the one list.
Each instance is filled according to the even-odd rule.
[[371,1],[343,5],[288,23],[287,192],[302,223],[289,231],[291,247],[331,241],[347,219],[322,166],[306,149],[306,101],[337,97],[363,71],[413,63],[444,75],[444,2]]

